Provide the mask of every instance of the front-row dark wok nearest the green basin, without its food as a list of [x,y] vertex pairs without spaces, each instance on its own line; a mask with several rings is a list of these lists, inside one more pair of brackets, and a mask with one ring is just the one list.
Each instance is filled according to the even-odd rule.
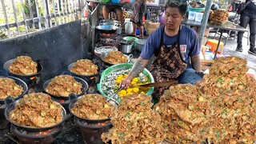
[[[103,96],[102,96],[103,97]],[[69,110],[70,113],[72,113],[71,109],[74,107],[75,102],[78,102],[78,99],[82,98],[82,97],[76,97],[75,95],[70,95],[70,106],[69,106]],[[118,108],[118,102],[116,100],[114,100],[113,98],[110,99],[110,104],[114,105],[115,108]],[[87,119],[87,118],[81,118],[75,114],[73,114],[75,117],[80,118],[82,120],[85,120],[86,122],[91,122],[91,123],[99,123],[99,122],[106,122],[106,121],[110,121],[110,118],[105,118],[105,119]]]

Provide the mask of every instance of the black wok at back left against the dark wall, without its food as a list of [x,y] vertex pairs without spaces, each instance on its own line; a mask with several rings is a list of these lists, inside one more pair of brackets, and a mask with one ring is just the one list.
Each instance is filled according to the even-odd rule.
[[30,74],[30,75],[22,75],[22,74],[13,74],[9,71],[9,66],[14,62],[15,59],[10,59],[9,61],[5,62],[3,64],[3,68],[7,71],[8,75],[14,76],[16,78],[22,79],[24,82],[26,82],[27,85],[30,85],[31,82],[34,81],[35,78],[38,78],[39,74],[41,74],[42,71],[42,59],[35,60],[37,62],[37,73],[36,74]]

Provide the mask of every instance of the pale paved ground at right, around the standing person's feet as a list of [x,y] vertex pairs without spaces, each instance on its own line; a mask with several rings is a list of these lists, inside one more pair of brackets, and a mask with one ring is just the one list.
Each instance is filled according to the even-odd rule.
[[[210,34],[208,38],[213,38],[214,34]],[[245,33],[244,36],[247,36]],[[225,38],[222,38],[222,42],[225,42]],[[238,56],[241,58],[246,58],[248,63],[247,65],[256,71],[256,56],[253,54],[248,54],[248,50],[250,49],[250,44],[247,45],[247,38],[242,38],[243,51],[237,52],[235,51],[237,47],[237,38],[229,38],[224,46],[223,54],[228,54],[232,56]]]

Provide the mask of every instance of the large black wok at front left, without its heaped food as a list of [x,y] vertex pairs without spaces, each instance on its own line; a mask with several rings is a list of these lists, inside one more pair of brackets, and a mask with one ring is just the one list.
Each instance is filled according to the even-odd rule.
[[[30,127],[30,126],[21,126],[21,125],[18,125],[17,123],[13,122],[12,120],[10,120],[10,112],[12,110],[14,110],[15,106],[17,106],[19,100],[17,101],[14,101],[14,98],[11,98],[11,97],[8,97],[6,98],[5,100],[6,102],[6,110],[5,110],[5,117],[6,119],[12,123],[13,125],[15,126],[18,126],[18,127],[22,127],[24,128],[24,130],[28,130],[28,131],[31,131],[31,132],[38,132],[38,131],[45,131],[45,130],[50,130],[56,126],[59,126],[62,124],[62,122],[64,122],[66,120],[66,110],[64,109],[64,107],[62,106],[62,121],[61,122],[58,122],[56,125],[54,126],[48,126],[48,127]],[[58,103],[58,102],[56,102]]]

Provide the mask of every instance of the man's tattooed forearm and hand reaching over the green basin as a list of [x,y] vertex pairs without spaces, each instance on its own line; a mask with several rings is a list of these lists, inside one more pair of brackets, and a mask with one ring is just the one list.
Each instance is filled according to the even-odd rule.
[[131,68],[129,74],[125,79],[122,80],[120,86],[129,86],[130,82],[132,81],[133,78],[137,77],[138,74],[142,72],[142,70],[145,68],[146,64],[149,62],[148,59],[139,57],[136,62],[134,63],[134,66]]

